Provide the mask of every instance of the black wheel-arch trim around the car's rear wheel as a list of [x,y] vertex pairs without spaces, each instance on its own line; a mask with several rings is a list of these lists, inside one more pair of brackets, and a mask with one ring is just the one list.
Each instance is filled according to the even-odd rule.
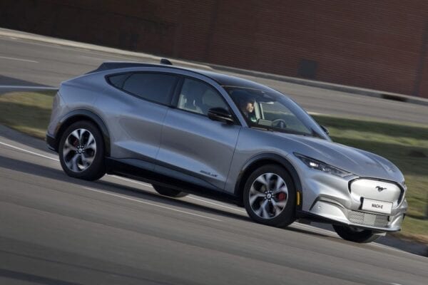
[[63,118],[61,118],[61,120],[59,120],[58,124],[56,125],[55,133],[54,133],[56,138],[56,144],[54,148],[56,149],[56,151],[58,151],[59,140],[61,140],[61,135],[63,131],[66,130],[68,125],[71,125],[72,123],[77,122],[78,120],[85,120],[85,119],[86,120],[89,119],[93,121],[93,123],[95,123],[98,126],[98,128],[101,131],[101,134],[103,135],[106,156],[110,156],[110,135],[108,134],[108,129],[106,127],[106,124],[104,123],[103,119],[101,119],[99,115],[87,109],[72,110],[70,113],[67,113],[66,115],[64,115]]

